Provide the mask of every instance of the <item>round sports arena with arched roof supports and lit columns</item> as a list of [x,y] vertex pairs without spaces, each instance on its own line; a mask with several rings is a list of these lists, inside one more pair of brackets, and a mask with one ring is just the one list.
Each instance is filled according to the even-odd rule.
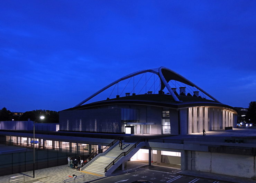
[[[126,96],[84,104],[107,88],[139,74],[153,73],[161,80],[157,94]],[[169,82],[183,85],[172,88]],[[167,93],[164,93],[164,89]],[[193,93],[192,93],[193,92]],[[185,135],[236,128],[237,110],[217,99],[174,71],[160,67],[122,77],[75,107],[60,111],[61,131]],[[131,132],[130,132],[131,131]]]

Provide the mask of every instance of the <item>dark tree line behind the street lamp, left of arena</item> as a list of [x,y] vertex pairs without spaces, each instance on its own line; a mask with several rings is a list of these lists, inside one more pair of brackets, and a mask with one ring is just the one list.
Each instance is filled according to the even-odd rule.
[[3,107],[0,110],[0,121],[35,121],[38,117],[44,116],[44,119],[38,119],[37,123],[59,123],[59,114],[54,110],[32,110],[23,113],[21,116],[13,116],[13,113]]

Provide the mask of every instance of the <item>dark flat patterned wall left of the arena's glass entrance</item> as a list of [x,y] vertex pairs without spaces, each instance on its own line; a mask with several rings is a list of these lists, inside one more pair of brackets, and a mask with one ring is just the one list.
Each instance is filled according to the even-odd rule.
[[60,130],[121,133],[121,108],[60,111]]

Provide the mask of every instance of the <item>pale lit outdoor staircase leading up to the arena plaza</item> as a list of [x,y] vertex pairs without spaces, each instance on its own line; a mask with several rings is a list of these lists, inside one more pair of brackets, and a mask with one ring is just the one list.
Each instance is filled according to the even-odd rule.
[[86,166],[83,168],[83,171],[89,172],[89,173],[96,173],[100,175],[104,175],[105,168],[113,161],[117,156],[119,156],[122,152],[126,152],[129,150],[134,144],[133,143],[124,143],[123,144],[123,150],[120,150],[119,144],[117,144],[114,148],[112,148],[103,156],[95,157],[96,159],[89,164],[89,166]]

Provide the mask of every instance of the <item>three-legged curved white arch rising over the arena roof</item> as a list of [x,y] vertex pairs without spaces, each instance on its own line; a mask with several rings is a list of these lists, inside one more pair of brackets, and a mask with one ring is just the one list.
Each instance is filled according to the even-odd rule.
[[77,104],[75,107],[77,106],[81,106],[82,104],[84,104],[85,102],[87,102],[88,100],[90,100],[91,98],[95,97],[96,95],[100,94],[102,91],[108,89],[109,87],[117,84],[118,82],[131,78],[133,76],[139,75],[139,74],[143,74],[143,73],[155,73],[156,75],[159,76],[159,78],[161,79],[161,90],[163,90],[165,87],[167,88],[167,90],[170,92],[170,94],[172,95],[173,99],[175,100],[175,102],[182,102],[182,100],[180,100],[173,92],[171,86],[168,84],[168,82],[170,80],[176,80],[176,81],[180,81],[181,83],[184,83],[185,85],[189,85],[192,87],[197,88],[198,90],[200,90],[202,93],[204,93],[205,95],[209,96],[211,99],[213,99],[215,102],[220,103],[216,98],[212,97],[210,94],[208,94],[207,92],[205,92],[203,89],[201,89],[200,87],[196,86],[195,84],[193,84],[190,80],[184,78],[183,76],[181,76],[180,74],[174,72],[171,69],[168,69],[166,67],[159,67],[159,68],[155,68],[155,69],[147,69],[147,70],[141,70],[141,71],[137,71],[135,73],[126,75],[116,81],[114,81],[113,83],[110,83],[109,85],[107,85],[106,87],[100,89],[99,91],[97,91],[96,93],[94,93],[93,95],[89,96],[88,98],[84,99],[82,102],[80,102],[79,104]]

